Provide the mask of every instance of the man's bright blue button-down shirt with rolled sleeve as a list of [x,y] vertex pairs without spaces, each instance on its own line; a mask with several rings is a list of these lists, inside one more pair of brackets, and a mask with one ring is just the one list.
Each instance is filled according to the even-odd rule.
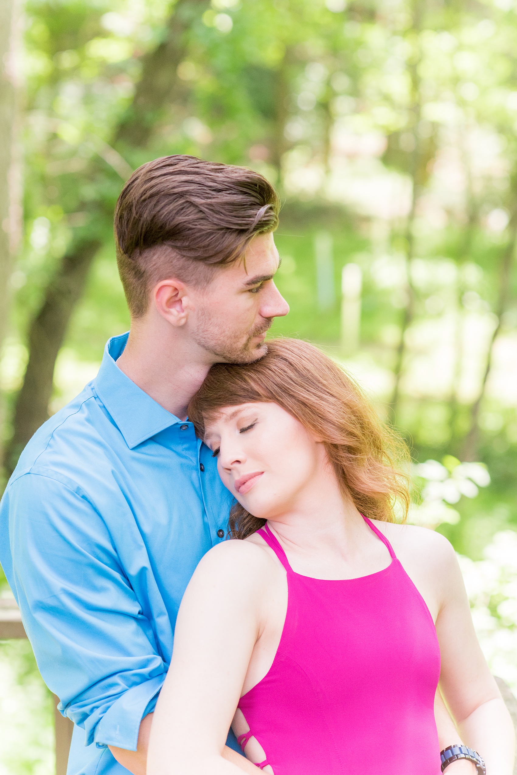
[[0,504],[0,562],[75,724],[68,775],[127,775],[107,746],[136,750],[184,589],[232,502],[191,422],[116,366],[126,341],[36,432]]

